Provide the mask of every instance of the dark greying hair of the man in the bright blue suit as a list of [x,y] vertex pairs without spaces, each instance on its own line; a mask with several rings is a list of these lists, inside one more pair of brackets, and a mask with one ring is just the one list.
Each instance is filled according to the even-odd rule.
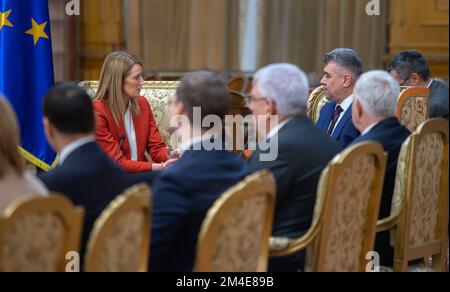
[[334,62],[339,67],[352,72],[355,80],[363,73],[361,58],[355,50],[346,48],[334,49],[325,54],[323,58],[324,65],[328,65],[330,62]]

